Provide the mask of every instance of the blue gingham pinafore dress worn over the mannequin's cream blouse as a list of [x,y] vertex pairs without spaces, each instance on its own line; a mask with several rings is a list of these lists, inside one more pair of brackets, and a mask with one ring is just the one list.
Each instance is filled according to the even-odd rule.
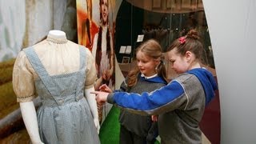
[[38,108],[39,134],[44,143],[98,144],[90,107],[84,97],[86,52],[80,46],[80,69],[50,76],[33,47],[23,49],[39,78],[35,90],[41,98]]

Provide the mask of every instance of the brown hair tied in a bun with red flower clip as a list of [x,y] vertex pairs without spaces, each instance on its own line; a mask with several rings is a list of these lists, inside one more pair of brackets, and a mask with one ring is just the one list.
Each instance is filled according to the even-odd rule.
[[191,51],[194,53],[195,58],[202,61],[203,46],[197,30],[190,30],[185,36],[174,40],[167,49],[167,52],[174,48],[177,48],[177,53],[182,56],[186,54],[186,51]]

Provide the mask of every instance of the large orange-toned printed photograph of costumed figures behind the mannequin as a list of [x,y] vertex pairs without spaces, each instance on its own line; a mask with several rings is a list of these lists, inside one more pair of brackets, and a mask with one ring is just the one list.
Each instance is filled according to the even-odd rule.
[[[116,11],[119,1],[77,0],[78,43],[88,48],[97,69],[94,88],[106,84],[112,90],[115,85],[114,74],[114,32]],[[110,106],[98,106],[100,123],[106,118]]]

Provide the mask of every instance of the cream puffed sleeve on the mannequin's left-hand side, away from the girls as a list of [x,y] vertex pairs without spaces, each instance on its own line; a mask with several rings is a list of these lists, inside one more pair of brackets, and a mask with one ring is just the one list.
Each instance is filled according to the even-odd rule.
[[30,102],[35,97],[34,77],[31,73],[30,62],[26,54],[21,51],[16,58],[13,70],[13,88],[17,102]]

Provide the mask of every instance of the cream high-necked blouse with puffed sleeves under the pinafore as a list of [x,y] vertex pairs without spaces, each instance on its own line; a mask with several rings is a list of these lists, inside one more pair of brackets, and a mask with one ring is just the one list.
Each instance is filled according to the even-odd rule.
[[[69,74],[79,70],[79,45],[65,38],[54,38],[48,34],[42,42],[34,46],[38,58],[50,75]],[[94,86],[96,69],[94,58],[86,48],[86,83],[85,89]],[[13,87],[18,102],[29,102],[37,96],[34,80],[38,79],[34,68],[26,58],[24,51],[20,51],[14,63]]]

